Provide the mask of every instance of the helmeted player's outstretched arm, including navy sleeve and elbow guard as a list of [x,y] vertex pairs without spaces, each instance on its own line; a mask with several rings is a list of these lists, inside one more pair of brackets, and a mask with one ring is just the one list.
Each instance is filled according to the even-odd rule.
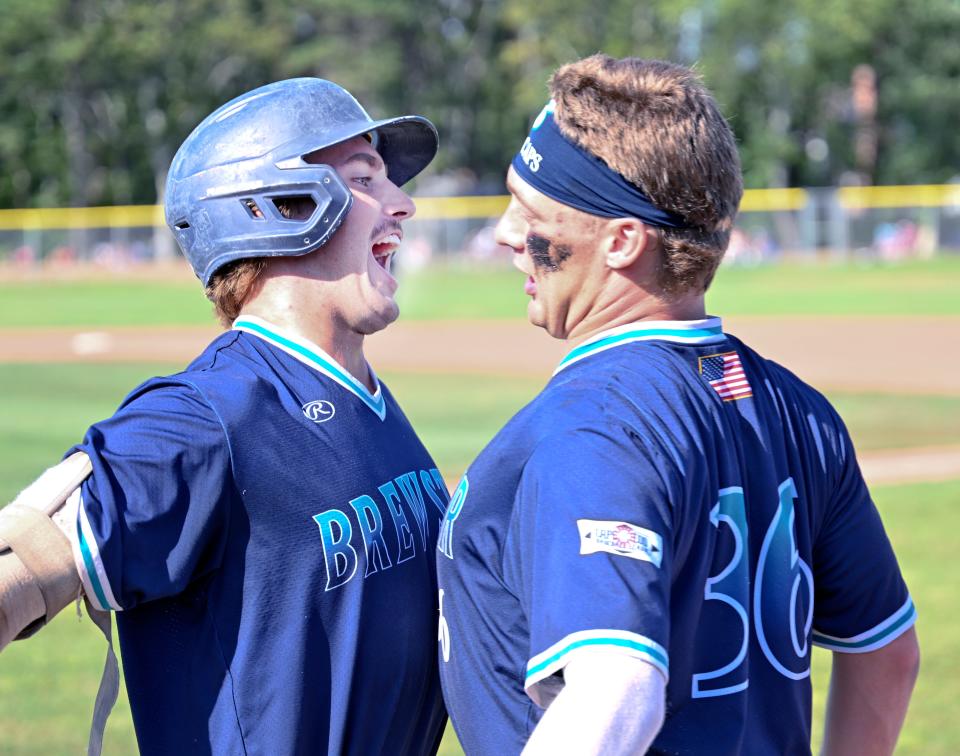
[[232,490],[224,440],[195,387],[152,382],[0,510],[0,648],[81,586],[93,609],[119,610],[215,569]]

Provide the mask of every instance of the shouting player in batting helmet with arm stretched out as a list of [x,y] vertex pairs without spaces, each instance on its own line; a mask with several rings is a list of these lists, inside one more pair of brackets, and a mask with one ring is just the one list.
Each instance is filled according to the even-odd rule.
[[166,217],[229,330],[0,513],[0,647],[81,590],[116,611],[144,754],[436,751],[447,494],[363,353],[436,150],[320,79],[206,118]]

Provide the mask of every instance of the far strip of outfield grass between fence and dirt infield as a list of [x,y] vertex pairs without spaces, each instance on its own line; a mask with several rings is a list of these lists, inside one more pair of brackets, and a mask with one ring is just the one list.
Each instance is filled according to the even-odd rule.
[[[960,256],[925,262],[785,263],[721,268],[708,309],[737,315],[960,315]],[[410,320],[523,319],[523,276],[512,268],[433,266],[401,275]],[[210,304],[196,281],[0,283],[0,328],[32,326],[209,325]]]

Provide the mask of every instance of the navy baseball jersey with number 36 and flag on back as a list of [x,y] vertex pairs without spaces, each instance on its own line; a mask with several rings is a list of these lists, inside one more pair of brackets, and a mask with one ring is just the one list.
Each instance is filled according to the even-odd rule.
[[521,750],[578,649],[667,683],[652,753],[804,753],[810,645],[915,618],[829,403],[725,335],[577,347],[470,465],[437,545],[440,676],[469,754]]

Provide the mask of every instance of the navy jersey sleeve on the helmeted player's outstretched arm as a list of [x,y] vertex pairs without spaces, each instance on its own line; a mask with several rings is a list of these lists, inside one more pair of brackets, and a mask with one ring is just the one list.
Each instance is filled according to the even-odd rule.
[[87,597],[130,609],[215,570],[232,474],[214,411],[188,385],[128,398],[86,433],[93,473],[79,489],[74,556]]

